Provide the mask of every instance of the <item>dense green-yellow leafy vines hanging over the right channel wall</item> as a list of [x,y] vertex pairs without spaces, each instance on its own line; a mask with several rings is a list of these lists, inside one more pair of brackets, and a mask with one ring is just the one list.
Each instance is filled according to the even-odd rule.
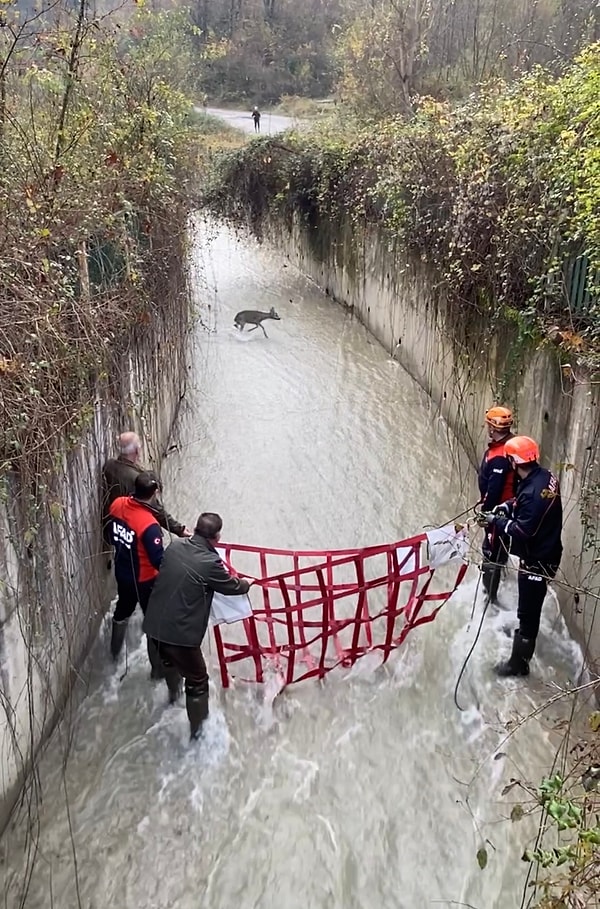
[[600,45],[559,79],[539,68],[460,105],[413,103],[409,119],[253,143],[222,161],[208,200],[257,230],[299,218],[326,243],[350,226],[357,249],[376,228],[464,318],[508,318],[595,362]]

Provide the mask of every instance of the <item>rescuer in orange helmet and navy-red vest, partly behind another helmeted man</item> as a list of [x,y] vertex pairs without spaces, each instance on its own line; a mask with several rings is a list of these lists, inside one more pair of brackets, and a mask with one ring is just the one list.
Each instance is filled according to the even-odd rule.
[[[515,496],[516,475],[504,450],[506,442],[513,438],[512,411],[508,407],[491,407],[485,422],[490,441],[479,468],[479,492],[481,510],[491,512]],[[491,524],[485,530],[481,549],[483,587],[490,601],[495,603],[502,568],[508,560],[508,540]]]

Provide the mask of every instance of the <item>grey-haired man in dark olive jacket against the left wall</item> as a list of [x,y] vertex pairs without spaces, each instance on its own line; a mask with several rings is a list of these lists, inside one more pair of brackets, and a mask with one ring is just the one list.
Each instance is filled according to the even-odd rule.
[[[102,493],[102,520],[104,539],[112,546],[112,531],[110,528],[109,509],[119,496],[133,495],[135,478],[140,473],[150,473],[158,483],[160,480],[152,471],[146,471],[140,464],[142,445],[135,432],[124,432],[119,436],[120,454],[118,458],[111,458],[103,467],[103,493]],[[165,511],[158,499],[154,498],[151,506],[156,514],[158,523],[165,530],[177,537],[191,536],[185,526]]]

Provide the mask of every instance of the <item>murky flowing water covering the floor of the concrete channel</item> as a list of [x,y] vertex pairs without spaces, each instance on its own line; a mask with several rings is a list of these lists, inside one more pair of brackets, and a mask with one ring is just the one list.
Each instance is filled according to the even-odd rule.
[[[351,314],[225,229],[198,228],[195,264],[201,324],[163,475],[174,514],[191,526],[217,511],[235,542],[325,549],[391,542],[475,501],[473,472],[435,406]],[[281,321],[265,323],[268,339],[232,327],[239,309],[271,306]],[[508,649],[507,613],[490,615],[459,711],[477,577],[471,568],[386,667],[365,661],[272,706],[251,686],[220,692],[207,643],[212,713],[193,745],[183,700],[166,707],[162,684],[148,680],[139,620],[121,680],[107,619],[88,694],[41,761],[36,824],[16,821],[3,838],[6,906],[520,906],[535,822],[511,823],[519,790],[501,790],[549,769],[560,704],[511,735],[507,724],[554,693],[580,656],[549,597],[532,678],[499,682],[490,666]],[[514,605],[510,577],[501,596]]]

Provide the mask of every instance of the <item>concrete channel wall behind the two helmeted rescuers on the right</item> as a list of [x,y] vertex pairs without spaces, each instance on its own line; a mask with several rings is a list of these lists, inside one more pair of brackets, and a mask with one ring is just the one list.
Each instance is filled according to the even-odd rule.
[[[533,350],[518,343],[510,325],[490,336],[475,313],[466,327],[457,323],[428,267],[407,261],[376,231],[364,234],[357,251],[350,227],[334,241],[298,224],[276,228],[273,242],[350,307],[428,392],[474,467],[487,441],[483,415],[494,403],[512,406],[517,431],[540,443],[544,465],[559,474],[564,500],[565,551],[555,589],[588,665],[600,669],[600,552],[592,545],[600,526],[597,383],[573,360],[561,360],[556,346]],[[496,398],[499,387],[505,389],[502,400]]]

